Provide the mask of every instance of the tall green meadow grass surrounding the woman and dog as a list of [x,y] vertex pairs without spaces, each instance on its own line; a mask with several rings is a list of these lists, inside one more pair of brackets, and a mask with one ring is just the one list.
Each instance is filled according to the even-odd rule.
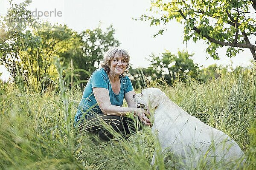
[[[58,73],[61,77],[61,67]],[[150,166],[158,146],[149,127],[127,141],[116,139],[99,145],[87,135],[78,135],[73,117],[82,92],[65,88],[63,81],[55,82],[59,90],[41,94],[25,85],[22,77],[13,84],[0,82],[0,169],[148,170],[158,166],[162,170],[180,166],[178,161],[175,166],[164,162],[161,154],[157,166]],[[204,84],[190,80],[177,82],[175,87],[149,86],[161,88],[185,111],[227,133],[247,156],[241,169],[256,169],[255,68]],[[200,162],[194,169],[236,169],[236,165]]]

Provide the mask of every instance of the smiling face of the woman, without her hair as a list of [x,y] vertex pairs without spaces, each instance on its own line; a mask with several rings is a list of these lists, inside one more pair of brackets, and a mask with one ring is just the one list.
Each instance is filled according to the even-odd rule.
[[127,62],[123,57],[116,55],[110,62],[111,74],[122,74],[125,72]]

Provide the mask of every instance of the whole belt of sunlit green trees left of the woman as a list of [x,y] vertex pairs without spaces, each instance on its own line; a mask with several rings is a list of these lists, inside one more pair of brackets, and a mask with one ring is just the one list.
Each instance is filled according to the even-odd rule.
[[98,27],[78,34],[67,25],[34,20],[27,9],[31,0],[10,3],[7,15],[0,20],[0,64],[14,79],[22,75],[35,91],[44,91],[57,77],[55,57],[66,68],[64,77],[73,76],[80,82],[98,68],[105,51],[119,45],[112,25],[107,31]]

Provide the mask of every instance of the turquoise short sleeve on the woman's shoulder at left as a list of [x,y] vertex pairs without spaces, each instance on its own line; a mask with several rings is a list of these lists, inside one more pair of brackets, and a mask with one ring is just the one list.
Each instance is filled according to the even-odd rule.
[[90,77],[92,88],[106,88],[108,89],[108,80],[102,70],[96,70]]

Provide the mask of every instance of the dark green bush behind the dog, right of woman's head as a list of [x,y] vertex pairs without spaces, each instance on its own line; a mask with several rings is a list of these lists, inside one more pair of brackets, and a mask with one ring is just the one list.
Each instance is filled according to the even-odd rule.
[[[148,60],[151,62],[148,68],[140,68],[138,74],[134,69],[130,68],[129,73],[133,76],[131,79],[134,81],[135,87],[144,87],[145,79],[147,81],[156,80],[157,82],[166,81],[169,85],[173,85],[175,81],[186,82],[187,79],[198,78],[198,64],[191,59],[192,54],[184,51],[178,51],[178,55],[171,54],[170,51],[165,51],[161,54],[152,54]],[[144,74],[144,75],[143,75]],[[138,85],[138,81],[142,85]]]

